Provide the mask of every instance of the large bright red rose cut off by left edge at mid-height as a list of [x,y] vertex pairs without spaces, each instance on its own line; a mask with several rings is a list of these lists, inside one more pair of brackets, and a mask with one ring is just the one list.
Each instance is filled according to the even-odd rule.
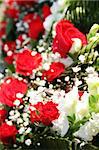
[[0,85],[0,102],[10,107],[14,106],[15,100],[23,102],[17,94],[25,94],[26,91],[27,85],[23,80],[20,81],[14,77],[6,78]]

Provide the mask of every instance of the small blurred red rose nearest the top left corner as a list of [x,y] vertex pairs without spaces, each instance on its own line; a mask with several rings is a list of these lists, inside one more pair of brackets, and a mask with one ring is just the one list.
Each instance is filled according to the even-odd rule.
[[10,18],[17,19],[19,17],[19,10],[13,7],[8,8],[5,11],[5,14],[7,14]]

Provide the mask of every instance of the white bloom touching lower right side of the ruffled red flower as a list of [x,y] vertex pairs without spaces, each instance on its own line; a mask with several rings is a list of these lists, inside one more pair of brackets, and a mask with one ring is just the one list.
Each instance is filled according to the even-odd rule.
[[52,122],[52,124],[52,130],[57,131],[57,133],[60,134],[61,137],[63,137],[69,129],[69,122],[66,114],[61,114],[57,120],[54,120]]

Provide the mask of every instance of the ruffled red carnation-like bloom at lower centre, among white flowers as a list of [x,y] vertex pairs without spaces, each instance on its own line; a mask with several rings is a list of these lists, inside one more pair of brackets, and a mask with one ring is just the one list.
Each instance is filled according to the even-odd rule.
[[59,117],[57,104],[52,101],[42,104],[39,102],[34,105],[35,111],[31,111],[31,122],[41,122],[46,126],[49,126],[53,120]]

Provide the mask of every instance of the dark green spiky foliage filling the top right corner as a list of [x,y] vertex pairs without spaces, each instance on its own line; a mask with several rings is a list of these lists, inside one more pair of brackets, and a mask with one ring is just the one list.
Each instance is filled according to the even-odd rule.
[[69,3],[66,18],[82,32],[87,33],[94,23],[99,23],[99,1],[69,0]]

